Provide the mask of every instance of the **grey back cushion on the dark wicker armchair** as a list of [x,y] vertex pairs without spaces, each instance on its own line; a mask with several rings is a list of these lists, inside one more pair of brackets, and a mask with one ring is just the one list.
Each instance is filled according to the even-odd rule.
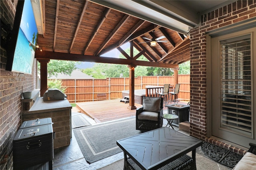
[[143,98],[143,111],[158,112],[161,107],[161,98]]

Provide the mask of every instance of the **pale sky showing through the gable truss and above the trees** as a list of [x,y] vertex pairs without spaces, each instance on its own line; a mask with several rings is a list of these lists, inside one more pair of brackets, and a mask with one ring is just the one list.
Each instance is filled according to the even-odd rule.
[[[122,45],[121,48],[123,50],[130,48],[130,43],[126,43],[126,44]],[[120,51],[118,51],[118,49],[113,49],[112,51],[109,51],[108,53],[103,54],[102,57],[118,58],[120,54],[121,53],[120,53]],[[95,63],[92,63],[92,62],[82,62],[77,67],[80,69],[92,68],[94,66],[94,64]]]

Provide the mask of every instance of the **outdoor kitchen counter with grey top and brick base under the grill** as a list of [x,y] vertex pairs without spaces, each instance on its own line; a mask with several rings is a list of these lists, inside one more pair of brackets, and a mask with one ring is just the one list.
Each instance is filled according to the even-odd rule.
[[22,113],[22,121],[51,117],[55,133],[54,149],[70,145],[72,138],[72,106],[67,99],[44,101],[38,98],[29,111]]

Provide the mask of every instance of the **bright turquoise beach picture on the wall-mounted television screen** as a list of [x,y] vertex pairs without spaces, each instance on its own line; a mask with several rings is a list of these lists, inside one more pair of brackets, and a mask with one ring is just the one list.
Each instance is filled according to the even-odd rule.
[[32,74],[38,29],[30,0],[25,0],[12,71]]

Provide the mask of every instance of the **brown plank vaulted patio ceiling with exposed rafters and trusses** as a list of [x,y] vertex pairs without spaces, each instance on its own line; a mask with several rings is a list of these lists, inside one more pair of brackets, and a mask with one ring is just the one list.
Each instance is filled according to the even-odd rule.
[[[177,68],[190,60],[190,39],[182,33],[85,0],[42,1],[43,34],[37,43],[42,49],[36,58],[98,63],[132,64]],[[153,35],[154,31],[154,35]],[[167,42],[150,43],[143,37],[161,37]],[[130,44],[140,52],[126,54],[121,45]],[[118,49],[126,59],[102,57]],[[144,55],[150,62],[136,60]]]

